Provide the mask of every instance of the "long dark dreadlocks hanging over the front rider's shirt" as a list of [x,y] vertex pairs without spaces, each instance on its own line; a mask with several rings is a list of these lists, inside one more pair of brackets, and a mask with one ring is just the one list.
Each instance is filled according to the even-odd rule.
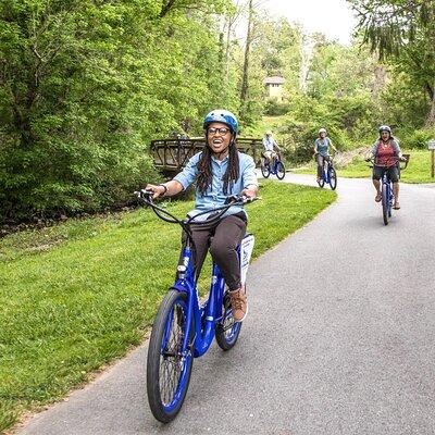
[[[198,178],[197,178],[197,189],[201,192],[201,195],[206,194],[207,189],[212,184],[212,172],[211,172],[211,156],[212,152],[210,147],[206,145],[201,159],[198,162]],[[226,172],[223,176],[224,182],[224,194],[228,194],[228,185],[231,186],[234,182],[237,181],[239,175],[239,167],[238,167],[238,151],[236,141],[234,138],[232,139],[229,147],[228,147],[228,166]]]

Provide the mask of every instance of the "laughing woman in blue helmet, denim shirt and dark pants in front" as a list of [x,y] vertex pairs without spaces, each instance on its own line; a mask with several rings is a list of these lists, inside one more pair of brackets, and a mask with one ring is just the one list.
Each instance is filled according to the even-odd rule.
[[[189,215],[203,211],[200,220],[212,216],[213,210],[221,207],[234,195],[254,198],[258,182],[253,159],[237,150],[236,136],[238,122],[236,116],[226,110],[213,110],[203,121],[206,147],[195,154],[184,170],[170,182],[160,185],[147,185],[153,198],[173,196],[196,183],[196,204]],[[207,251],[219,265],[229,289],[233,316],[241,322],[248,312],[245,288],[240,282],[240,268],[237,246],[245,236],[247,214],[241,206],[232,206],[222,219],[211,226],[192,227],[192,239],[196,247],[197,276],[206,259]],[[212,241],[210,244],[210,239]]]

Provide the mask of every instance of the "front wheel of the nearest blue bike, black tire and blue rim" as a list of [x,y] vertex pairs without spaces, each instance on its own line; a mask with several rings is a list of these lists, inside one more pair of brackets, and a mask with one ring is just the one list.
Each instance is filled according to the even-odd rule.
[[162,423],[175,419],[189,386],[194,356],[190,345],[183,353],[186,333],[187,295],[170,290],[152,325],[147,360],[148,401],[152,414]]

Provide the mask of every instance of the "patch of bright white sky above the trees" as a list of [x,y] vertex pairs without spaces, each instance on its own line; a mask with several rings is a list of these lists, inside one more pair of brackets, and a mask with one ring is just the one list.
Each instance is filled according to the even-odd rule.
[[263,0],[261,5],[273,16],[285,16],[308,33],[321,32],[341,44],[349,44],[357,24],[346,0]]

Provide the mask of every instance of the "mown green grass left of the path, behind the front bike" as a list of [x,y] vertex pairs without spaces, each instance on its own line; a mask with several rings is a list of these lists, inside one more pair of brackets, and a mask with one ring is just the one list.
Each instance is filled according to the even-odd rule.
[[[253,257],[335,200],[276,182],[261,196],[248,211]],[[184,215],[191,202],[167,208]],[[141,343],[173,282],[179,239],[146,209],[0,239],[0,430]]]

